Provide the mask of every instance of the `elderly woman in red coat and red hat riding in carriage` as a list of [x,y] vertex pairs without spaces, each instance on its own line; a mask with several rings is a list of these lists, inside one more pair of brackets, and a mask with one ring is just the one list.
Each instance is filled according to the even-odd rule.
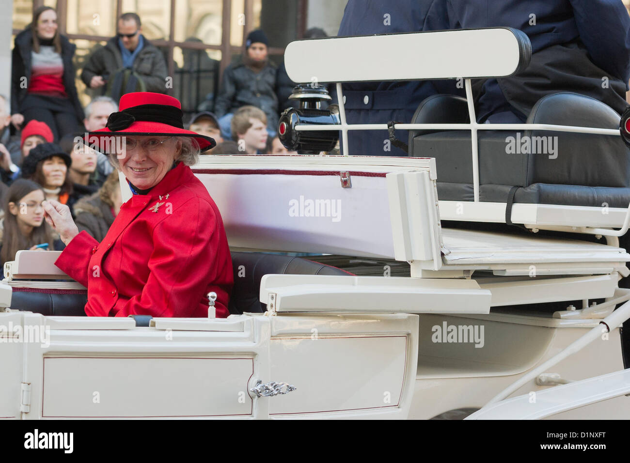
[[43,203],[66,249],[55,265],[88,288],[89,316],[227,317],[232,261],[221,214],[192,173],[210,137],[184,130],[181,105],[158,93],[125,94],[88,143],[108,151],[132,198],[105,239],[79,233],[66,205]]

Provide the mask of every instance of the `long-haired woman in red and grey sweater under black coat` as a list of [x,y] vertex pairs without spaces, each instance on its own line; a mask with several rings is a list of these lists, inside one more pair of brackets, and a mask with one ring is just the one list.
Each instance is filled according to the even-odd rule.
[[11,68],[11,122],[45,122],[55,140],[76,132],[84,118],[74,85],[76,45],[57,31],[57,13],[35,9],[33,22],[15,37]]

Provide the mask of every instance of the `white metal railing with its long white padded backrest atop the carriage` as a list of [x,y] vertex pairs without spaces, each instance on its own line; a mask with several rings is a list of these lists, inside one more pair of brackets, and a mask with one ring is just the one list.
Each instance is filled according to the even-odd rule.
[[[387,130],[387,123],[348,124],[345,115],[344,82],[462,79],[466,89],[469,123],[396,123],[400,130],[470,130],[473,157],[474,203],[479,201],[479,130],[548,130],[621,136],[617,129],[572,125],[527,123],[478,123],[471,79],[507,77],[527,66],[529,39],[510,28],[415,32],[363,37],[330,37],[298,40],[287,45],[285,66],[294,82],[334,82],[340,123],[297,125],[295,130],[339,130],[343,154],[349,156],[348,130]],[[447,57],[447,58],[445,58]],[[630,205],[621,229],[566,227],[556,229],[618,237],[630,225]],[[547,228],[549,227],[539,227]]]

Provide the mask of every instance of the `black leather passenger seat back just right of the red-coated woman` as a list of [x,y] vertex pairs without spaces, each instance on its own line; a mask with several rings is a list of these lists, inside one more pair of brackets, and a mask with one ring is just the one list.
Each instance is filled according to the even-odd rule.
[[266,311],[260,297],[260,280],[268,273],[286,275],[352,275],[340,268],[299,257],[278,254],[232,252],[234,287],[229,302],[231,314]]

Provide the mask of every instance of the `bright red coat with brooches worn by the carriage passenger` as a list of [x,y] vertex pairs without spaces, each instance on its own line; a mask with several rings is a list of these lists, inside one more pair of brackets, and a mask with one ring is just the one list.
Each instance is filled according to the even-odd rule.
[[181,163],[124,203],[101,243],[82,231],[55,265],[88,288],[89,316],[207,317],[210,291],[217,317],[229,315],[234,277],[223,220]]

